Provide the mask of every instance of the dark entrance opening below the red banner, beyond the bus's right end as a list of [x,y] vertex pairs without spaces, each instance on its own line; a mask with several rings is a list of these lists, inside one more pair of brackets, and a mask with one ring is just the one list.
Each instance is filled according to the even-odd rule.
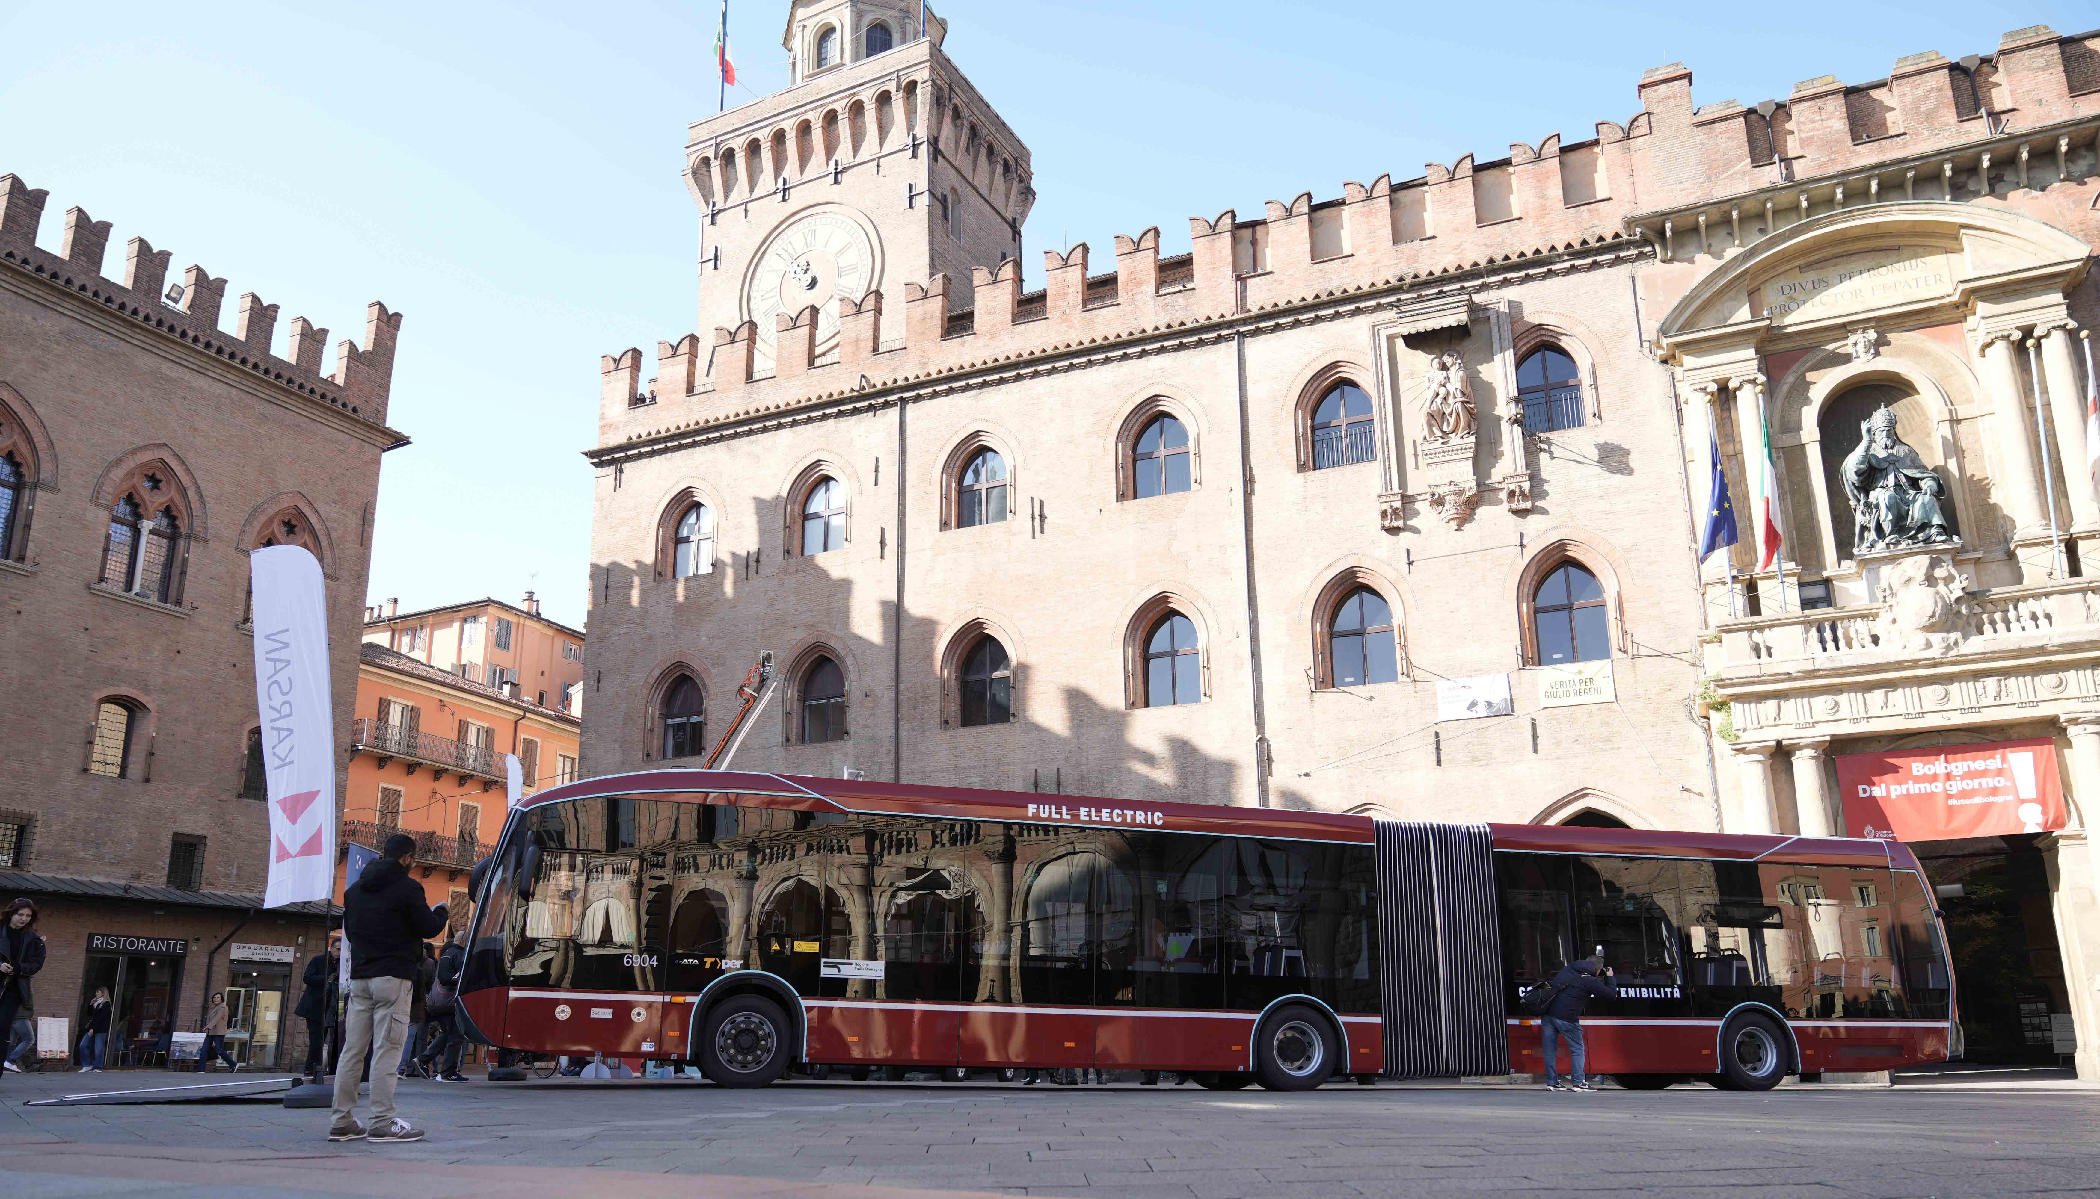
[[1947,924],[1966,1060],[2056,1065],[2052,1016],[2071,1010],[2033,834],[1913,842]]

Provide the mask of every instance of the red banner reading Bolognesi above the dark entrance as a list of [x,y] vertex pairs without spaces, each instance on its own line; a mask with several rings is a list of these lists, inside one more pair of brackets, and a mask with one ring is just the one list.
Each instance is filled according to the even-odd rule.
[[2045,834],[2068,823],[2056,743],[1991,741],[1842,754],[1846,832],[1882,840]]

